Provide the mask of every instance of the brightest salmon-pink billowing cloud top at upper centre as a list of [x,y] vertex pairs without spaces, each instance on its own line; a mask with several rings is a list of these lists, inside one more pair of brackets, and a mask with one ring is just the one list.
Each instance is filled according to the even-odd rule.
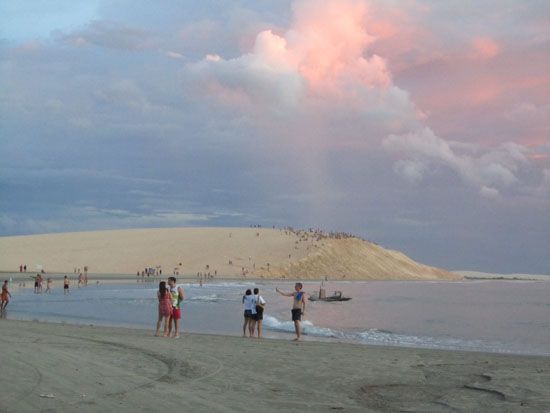
[[365,29],[366,2],[301,0],[292,9],[292,24],[284,34],[264,30],[250,53],[210,63],[217,63],[218,72],[225,74],[233,66],[252,77],[299,78],[305,86],[301,91],[312,96],[347,99],[357,94],[357,88],[392,87],[386,61],[368,50],[375,38]]

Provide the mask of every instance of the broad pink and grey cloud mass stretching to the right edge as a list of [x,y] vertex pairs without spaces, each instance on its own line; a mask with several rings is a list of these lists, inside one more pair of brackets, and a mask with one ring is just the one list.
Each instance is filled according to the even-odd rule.
[[[394,170],[412,183],[443,164],[484,197],[519,188],[528,165],[543,159],[526,136],[544,135],[548,122],[537,115],[532,124],[543,126],[518,135],[514,127],[524,121],[505,114],[517,96],[537,91],[533,104],[542,113],[548,75],[490,36],[461,33],[449,41],[430,32],[420,24],[430,10],[417,6],[299,0],[287,30],[260,31],[248,53],[189,68],[203,91],[239,108],[268,140],[304,153],[315,148],[304,161],[311,171],[323,169],[327,149],[368,151],[382,143],[401,156]],[[536,50],[523,57],[532,55],[547,61]]]

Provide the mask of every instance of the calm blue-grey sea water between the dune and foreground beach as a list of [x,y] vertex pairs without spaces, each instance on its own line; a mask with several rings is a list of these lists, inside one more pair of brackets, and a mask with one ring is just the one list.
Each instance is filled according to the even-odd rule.
[[[60,282],[57,282],[60,284]],[[92,283],[93,284],[93,283]],[[157,286],[99,284],[52,294],[12,288],[7,318],[153,330]],[[264,335],[291,338],[293,291],[289,282],[210,282],[182,285],[182,329],[242,335],[242,296],[258,287],[267,301]],[[342,291],[346,302],[308,302],[302,322],[306,340],[374,345],[550,355],[550,282],[462,281],[329,282],[327,294]],[[318,282],[304,283],[316,293]]]

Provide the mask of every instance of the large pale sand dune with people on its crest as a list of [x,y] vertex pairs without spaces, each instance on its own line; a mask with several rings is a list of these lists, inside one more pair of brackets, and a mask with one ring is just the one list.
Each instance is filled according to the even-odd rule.
[[[358,238],[266,228],[168,228],[0,237],[0,270],[301,279],[459,279]],[[207,267],[208,266],[208,267]],[[244,273],[244,275],[243,275]]]

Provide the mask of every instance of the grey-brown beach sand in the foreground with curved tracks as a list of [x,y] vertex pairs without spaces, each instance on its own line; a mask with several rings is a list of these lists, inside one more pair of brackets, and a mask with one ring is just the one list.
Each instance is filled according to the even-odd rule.
[[543,412],[550,358],[0,320],[0,412]]

